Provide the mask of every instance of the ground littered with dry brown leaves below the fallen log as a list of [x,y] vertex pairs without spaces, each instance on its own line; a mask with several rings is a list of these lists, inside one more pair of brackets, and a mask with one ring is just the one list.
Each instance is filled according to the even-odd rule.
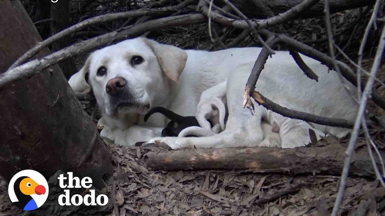
[[[113,184],[104,189],[114,203],[110,215],[321,216],[330,215],[338,191],[340,177],[322,174],[153,171],[144,162],[148,149],[106,145],[116,167]],[[385,215],[385,188],[373,178],[352,176],[342,209],[347,216]],[[21,212],[1,181],[0,216],[8,215]]]

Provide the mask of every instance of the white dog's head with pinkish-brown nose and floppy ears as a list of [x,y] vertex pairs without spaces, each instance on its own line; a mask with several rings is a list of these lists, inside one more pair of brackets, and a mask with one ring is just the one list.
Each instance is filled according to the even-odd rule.
[[[69,84],[75,92],[94,91],[107,116],[145,114],[167,100],[187,53],[146,38],[129,39],[93,52]],[[86,81],[88,77],[88,81]]]

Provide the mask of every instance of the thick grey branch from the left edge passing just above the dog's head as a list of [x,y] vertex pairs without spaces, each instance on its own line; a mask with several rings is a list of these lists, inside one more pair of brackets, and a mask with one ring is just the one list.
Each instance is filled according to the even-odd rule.
[[134,25],[131,28],[125,28],[122,30],[110,32],[99,37],[91,38],[80,43],[75,43],[70,47],[59,50],[44,58],[35,59],[29,61],[23,65],[20,65],[12,70],[0,74],[0,87],[7,85],[8,83],[17,80],[22,77],[27,77],[35,73],[39,73],[42,69],[48,65],[57,63],[59,60],[68,58],[69,56],[77,55],[79,53],[87,52],[91,49],[105,46],[111,42],[121,40],[123,38],[136,37],[148,31],[158,30],[161,28],[171,26],[183,26],[192,25],[196,23],[202,23],[206,19],[202,14],[189,14],[179,15],[175,17],[159,18],[156,20],[150,20],[138,25]]

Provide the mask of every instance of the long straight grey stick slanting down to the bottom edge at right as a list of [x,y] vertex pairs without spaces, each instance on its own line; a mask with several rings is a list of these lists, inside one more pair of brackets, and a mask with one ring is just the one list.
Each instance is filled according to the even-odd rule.
[[[378,1],[380,1],[380,0],[378,0]],[[368,81],[365,85],[365,89],[362,93],[361,103],[360,103],[360,107],[358,108],[357,118],[356,118],[355,123],[354,123],[352,136],[350,137],[349,145],[348,145],[348,148],[346,150],[346,158],[345,158],[345,162],[344,162],[344,166],[343,166],[343,171],[342,171],[342,176],[341,176],[341,181],[340,181],[340,187],[338,188],[338,195],[337,195],[336,201],[334,203],[333,212],[331,213],[332,216],[336,216],[339,209],[340,209],[340,205],[341,205],[341,202],[343,199],[343,194],[345,192],[345,187],[346,187],[346,178],[348,177],[348,173],[349,173],[350,161],[351,161],[354,146],[356,144],[357,137],[358,137],[358,131],[360,130],[363,116],[365,114],[368,96],[372,92],[372,88],[373,88],[373,84],[374,84],[374,78],[373,77],[375,77],[377,75],[378,68],[381,64],[382,54],[383,54],[384,48],[385,48],[385,27],[382,28],[380,42],[378,43],[376,56],[375,56],[374,61],[373,61],[372,69],[370,70],[370,74],[372,76],[369,76]]]

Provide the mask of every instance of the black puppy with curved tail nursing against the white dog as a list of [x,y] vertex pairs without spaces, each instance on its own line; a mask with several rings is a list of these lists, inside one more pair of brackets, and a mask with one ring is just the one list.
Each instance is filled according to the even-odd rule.
[[[191,126],[200,126],[198,121],[196,120],[195,116],[181,116],[173,111],[166,109],[161,106],[156,106],[148,111],[148,113],[144,116],[144,121],[146,122],[148,118],[154,114],[154,113],[162,113],[164,116],[166,116],[169,120],[171,120],[166,128],[162,130],[162,137],[164,136],[178,136],[179,133],[184,128],[188,128]],[[208,120],[209,121],[209,120]],[[213,126],[211,121],[209,121],[211,127]]]

